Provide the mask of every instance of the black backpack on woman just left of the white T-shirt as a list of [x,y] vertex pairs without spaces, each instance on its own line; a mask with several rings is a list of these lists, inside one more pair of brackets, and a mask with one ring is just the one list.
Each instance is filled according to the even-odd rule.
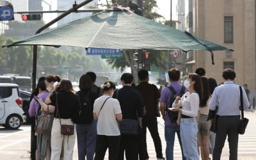
[[79,117],[76,120],[76,124],[92,124],[93,121],[93,105],[90,100],[90,92],[85,95],[81,91],[76,93],[79,97],[80,109]]

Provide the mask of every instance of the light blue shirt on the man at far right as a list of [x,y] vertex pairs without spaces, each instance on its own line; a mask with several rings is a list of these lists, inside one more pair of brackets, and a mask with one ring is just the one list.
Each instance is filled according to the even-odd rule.
[[[246,93],[243,90],[243,106],[244,109],[250,106]],[[238,116],[240,115],[239,107],[240,90],[237,84],[233,81],[225,81],[224,84],[216,87],[212,93],[212,98],[209,102],[210,109],[214,111],[216,106],[219,107],[217,115],[219,116]]]

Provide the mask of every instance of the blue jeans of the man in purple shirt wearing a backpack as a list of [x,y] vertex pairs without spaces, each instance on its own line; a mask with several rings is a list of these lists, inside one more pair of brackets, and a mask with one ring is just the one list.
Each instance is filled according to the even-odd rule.
[[177,132],[177,136],[179,138],[179,143],[180,143],[180,149],[182,152],[182,159],[186,160],[183,154],[182,150],[182,143],[180,140],[180,126],[176,127],[169,127],[167,125],[164,126],[164,138],[166,141],[166,160],[173,160],[173,147],[174,147],[174,140],[175,140],[175,132]]

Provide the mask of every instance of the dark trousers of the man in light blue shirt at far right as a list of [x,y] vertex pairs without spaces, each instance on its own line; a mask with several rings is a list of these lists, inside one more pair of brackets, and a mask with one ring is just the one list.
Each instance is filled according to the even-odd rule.
[[229,159],[237,160],[238,126],[240,116],[218,117],[215,147],[212,154],[213,160],[220,160],[222,148],[228,136]]

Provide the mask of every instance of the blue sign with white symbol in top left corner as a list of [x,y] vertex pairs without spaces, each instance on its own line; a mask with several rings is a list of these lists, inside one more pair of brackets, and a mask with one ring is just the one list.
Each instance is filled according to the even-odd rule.
[[1,1],[0,5],[0,20],[14,20],[12,4],[8,1]]

